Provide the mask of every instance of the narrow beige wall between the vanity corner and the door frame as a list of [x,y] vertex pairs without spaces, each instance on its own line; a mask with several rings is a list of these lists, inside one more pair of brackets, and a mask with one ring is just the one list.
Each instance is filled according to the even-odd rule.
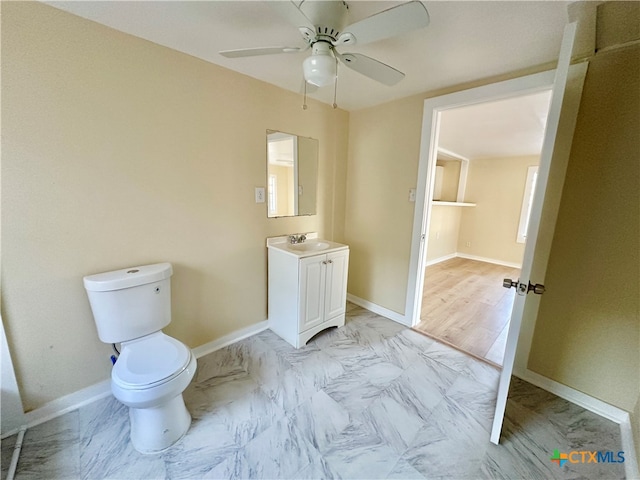
[[351,112],[345,241],[349,293],[403,312],[420,151],[422,97]]

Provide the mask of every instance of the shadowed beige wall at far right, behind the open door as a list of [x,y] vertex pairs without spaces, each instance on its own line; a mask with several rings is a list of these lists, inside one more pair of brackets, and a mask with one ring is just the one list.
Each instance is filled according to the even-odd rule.
[[640,46],[589,65],[529,368],[627,411],[640,379]]

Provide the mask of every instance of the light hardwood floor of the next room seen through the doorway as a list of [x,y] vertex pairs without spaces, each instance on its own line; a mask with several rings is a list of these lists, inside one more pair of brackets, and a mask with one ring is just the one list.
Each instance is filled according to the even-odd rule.
[[502,280],[519,275],[516,268],[464,258],[427,267],[415,329],[502,366],[515,295]]

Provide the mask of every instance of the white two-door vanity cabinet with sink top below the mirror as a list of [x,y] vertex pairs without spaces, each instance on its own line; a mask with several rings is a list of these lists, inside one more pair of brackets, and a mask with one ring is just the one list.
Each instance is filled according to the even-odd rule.
[[296,348],[325,328],[344,325],[349,248],[321,242],[329,246],[269,248],[269,328]]

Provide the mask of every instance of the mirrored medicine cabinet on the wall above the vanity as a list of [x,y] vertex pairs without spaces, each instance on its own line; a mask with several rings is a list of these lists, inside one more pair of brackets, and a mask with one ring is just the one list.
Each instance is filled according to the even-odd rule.
[[316,214],[318,140],[267,130],[267,216]]

